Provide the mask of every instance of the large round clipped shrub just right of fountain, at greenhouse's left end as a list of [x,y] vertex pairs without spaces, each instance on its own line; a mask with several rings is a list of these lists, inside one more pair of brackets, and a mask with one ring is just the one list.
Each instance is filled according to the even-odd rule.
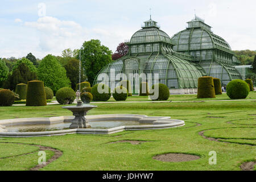
[[[98,90],[98,87],[99,87],[99,90]],[[98,91],[102,93],[99,93]],[[109,86],[102,83],[94,85],[92,87],[91,93],[93,95],[93,101],[108,101],[111,97]]]

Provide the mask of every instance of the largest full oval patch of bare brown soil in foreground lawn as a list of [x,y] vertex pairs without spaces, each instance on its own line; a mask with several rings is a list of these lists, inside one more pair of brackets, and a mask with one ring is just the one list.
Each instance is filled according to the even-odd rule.
[[186,162],[191,160],[200,159],[200,156],[197,155],[190,155],[190,154],[163,154],[163,155],[156,155],[153,157],[155,160],[160,160],[162,162]]

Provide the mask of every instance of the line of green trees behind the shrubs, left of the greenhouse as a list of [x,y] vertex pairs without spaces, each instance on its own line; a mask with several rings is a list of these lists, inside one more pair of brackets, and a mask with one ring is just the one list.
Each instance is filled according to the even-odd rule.
[[85,41],[81,49],[68,48],[62,51],[61,56],[47,55],[42,60],[32,53],[20,59],[0,58],[0,88],[14,90],[16,84],[41,80],[54,93],[67,86],[75,90],[79,83],[80,58],[81,82],[89,81],[93,84],[98,72],[111,61],[125,55],[127,50],[127,46],[121,43],[113,54],[100,40],[92,39]]

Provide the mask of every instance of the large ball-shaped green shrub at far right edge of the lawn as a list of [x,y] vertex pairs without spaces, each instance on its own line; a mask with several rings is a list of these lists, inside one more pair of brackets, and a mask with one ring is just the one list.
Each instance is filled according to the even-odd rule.
[[249,92],[250,87],[243,80],[232,80],[226,86],[226,94],[231,99],[246,98]]

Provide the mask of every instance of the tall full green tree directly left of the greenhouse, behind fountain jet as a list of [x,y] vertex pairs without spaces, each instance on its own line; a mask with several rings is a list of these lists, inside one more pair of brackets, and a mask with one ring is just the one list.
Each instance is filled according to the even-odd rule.
[[[100,40],[90,40],[82,44],[81,62],[85,75],[90,84],[105,65],[112,61],[112,51],[108,47],[101,45]],[[79,55],[77,55],[79,59]]]

